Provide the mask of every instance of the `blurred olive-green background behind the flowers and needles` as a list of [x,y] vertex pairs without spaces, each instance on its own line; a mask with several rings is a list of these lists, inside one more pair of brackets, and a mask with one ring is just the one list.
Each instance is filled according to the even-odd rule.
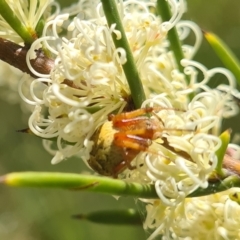
[[[69,3],[64,2],[65,5]],[[189,0],[185,19],[220,36],[240,58],[239,16],[238,1],[230,4],[226,0]],[[222,66],[206,41],[203,41],[195,59],[208,68]],[[1,72],[0,78],[7,80],[8,76]],[[219,83],[217,78],[214,81],[215,85]],[[0,96],[0,175],[15,171],[77,173],[86,169],[76,158],[51,165],[52,156],[44,150],[40,139],[16,132],[27,127],[28,114],[23,114],[20,105],[15,103],[15,96],[11,96],[4,87],[0,88]],[[12,104],[3,100],[6,98],[12,99]],[[239,132],[237,124],[234,125],[236,120],[225,121],[224,128],[231,127]],[[71,218],[78,213],[129,207],[135,207],[132,198],[116,200],[103,194],[0,186],[0,239],[144,240],[146,233],[140,226],[105,226]]]

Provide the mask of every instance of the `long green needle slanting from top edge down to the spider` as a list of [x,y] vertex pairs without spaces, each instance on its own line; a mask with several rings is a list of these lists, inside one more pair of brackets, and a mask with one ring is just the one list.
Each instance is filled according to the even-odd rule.
[[101,0],[103,10],[108,22],[108,26],[116,24],[116,30],[121,32],[121,38],[117,39],[117,36],[113,33],[112,38],[116,48],[123,48],[126,51],[127,62],[122,66],[125,76],[127,78],[131,96],[135,105],[135,108],[140,108],[143,101],[146,99],[143,90],[142,82],[139,77],[137,67],[134,62],[134,58],[128,44],[126,34],[117,10],[117,4],[115,0]]

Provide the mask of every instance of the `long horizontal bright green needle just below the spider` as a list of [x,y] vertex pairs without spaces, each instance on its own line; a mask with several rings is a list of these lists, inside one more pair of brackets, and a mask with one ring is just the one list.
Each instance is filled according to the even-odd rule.
[[0,178],[0,183],[13,187],[63,188],[117,196],[158,198],[154,185],[128,183],[119,179],[55,172],[10,173]]

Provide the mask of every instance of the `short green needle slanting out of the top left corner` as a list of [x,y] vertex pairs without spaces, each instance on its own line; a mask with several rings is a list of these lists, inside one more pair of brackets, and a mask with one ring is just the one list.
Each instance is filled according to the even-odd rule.
[[33,35],[29,32],[22,22],[17,18],[5,0],[0,0],[0,14],[11,26],[11,28],[23,39],[26,45],[31,45],[34,41]]

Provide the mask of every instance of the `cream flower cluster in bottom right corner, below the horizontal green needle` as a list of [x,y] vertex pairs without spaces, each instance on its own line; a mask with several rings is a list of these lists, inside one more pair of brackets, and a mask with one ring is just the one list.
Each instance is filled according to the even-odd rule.
[[154,230],[148,240],[239,239],[240,192],[238,188],[206,197],[186,198],[176,207],[161,201],[147,205],[144,228]]

